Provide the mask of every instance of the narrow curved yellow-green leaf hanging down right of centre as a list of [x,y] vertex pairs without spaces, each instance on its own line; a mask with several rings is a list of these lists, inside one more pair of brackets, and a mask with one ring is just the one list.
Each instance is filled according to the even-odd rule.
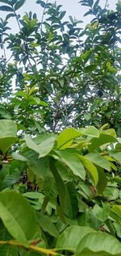
[[77,155],[77,157],[81,160],[81,163],[86,168],[86,170],[88,170],[90,172],[92,178],[94,179],[95,185],[97,185],[97,183],[98,183],[97,168],[94,166],[94,164],[92,162],[90,162],[90,160],[87,157],[81,156],[81,155]]

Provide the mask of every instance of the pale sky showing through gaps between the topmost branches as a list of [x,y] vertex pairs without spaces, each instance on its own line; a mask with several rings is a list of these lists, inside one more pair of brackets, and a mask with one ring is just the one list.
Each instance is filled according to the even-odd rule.
[[[81,6],[80,3],[78,3],[80,0],[56,0],[56,3],[58,5],[62,5],[61,10],[66,10],[66,15],[65,15],[65,20],[69,20],[68,17],[69,15],[72,15],[76,19],[82,20],[84,23],[83,25],[81,24],[81,27],[84,27],[87,23],[90,22],[90,19],[92,17],[86,16],[83,17],[83,15],[88,11],[88,7],[86,6]],[[96,0],[94,0],[95,2]],[[48,0],[48,2],[55,2],[55,0]],[[118,0],[108,0],[109,7],[111,10],[115,10],[115,5],[118,2]],[[106,0],[100,0],[101,6],[105,6]],[[0,2],[0,6],[4,5],[2,2]],[[32,13],[37,14],[37,18],[39,21],[41,20],[42,14],[43,14],[43,8],[39,4],[36,4],[36,0],[26,0],[25,4],[18,10],[18,14],[21,15],[21,17],[24,15],[25,12],[32,11]],[[8,13],[0,11],[0,18],[2,19],[6,18],[6,15]],[[11,27],[12,33],[18,32],[18,24],[16,23],[15,19],[10,19],[9,20],[9,27]],[[0,49],[0,56],[2,54],[2,50]]]

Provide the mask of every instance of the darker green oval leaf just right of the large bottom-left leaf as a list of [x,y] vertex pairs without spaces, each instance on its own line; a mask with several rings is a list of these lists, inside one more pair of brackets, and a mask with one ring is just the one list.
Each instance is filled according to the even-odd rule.
[[37,217],[38,223],[44,232],[48,232],[52,237],[58,237],[58,230],[48,216],[45,216],[42,213],[38,213]]

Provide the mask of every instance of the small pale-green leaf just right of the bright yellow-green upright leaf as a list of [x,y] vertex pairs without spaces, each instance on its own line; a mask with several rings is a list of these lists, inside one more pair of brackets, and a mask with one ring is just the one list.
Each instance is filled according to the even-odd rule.
[[89,126],[88,128],[80,128],[79,131],[86,136],[99,137],[98,129],[94,126]]

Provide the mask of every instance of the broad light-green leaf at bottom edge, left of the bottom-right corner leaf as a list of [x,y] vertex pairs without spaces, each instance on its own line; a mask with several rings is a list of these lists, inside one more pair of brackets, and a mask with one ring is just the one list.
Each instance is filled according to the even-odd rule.
[[91,233],[92,235],[94,232],[94,229],[89,227],[72,225],[60,234],[56,241],[56,248],[57,250],[69,250],[74,253],[81,239],[85,237],[87,233]]

